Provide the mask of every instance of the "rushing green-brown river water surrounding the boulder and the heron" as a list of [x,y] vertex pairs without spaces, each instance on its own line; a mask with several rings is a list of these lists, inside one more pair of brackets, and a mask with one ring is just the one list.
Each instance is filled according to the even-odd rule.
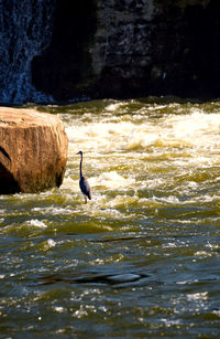
[[36,108],[68,163],[59,189],[0,195],[0,338],[219,338],[220,102]]

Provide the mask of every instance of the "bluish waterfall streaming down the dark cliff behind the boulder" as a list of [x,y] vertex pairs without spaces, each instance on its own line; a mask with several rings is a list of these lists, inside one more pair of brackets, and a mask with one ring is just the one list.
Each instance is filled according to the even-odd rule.
[[31,62],[52,38],[56,0],[0,0],[0,103],[53,102],[32,85]]

